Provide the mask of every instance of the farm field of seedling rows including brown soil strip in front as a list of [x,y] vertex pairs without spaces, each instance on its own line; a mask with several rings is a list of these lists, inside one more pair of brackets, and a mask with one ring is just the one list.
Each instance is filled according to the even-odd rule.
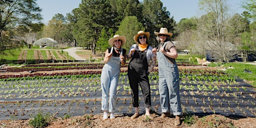
[[[131,123],[129,116],[132,115],[133,108],[131,106],[126,67],[121,68],[122,73],[117,88],[118,99],[116,102],[118,108],[116,108],[115,114],[118,116],[113,120],[102,121],[100,104],[100,72],[102,64],[83,64],[81,66],[76,64],[74,66],[77,68],[70,69],[72,66],[69,65],[69,69],[65,69],[65,66],[62,66],[61,71],[57,67],[52,67],[55,70],[40,71],[38,69],[32,73],[29,73],[28,70],[22,71],[21,68],[17,68],[20,70],[15,71],[15,68],[12,67],[12,71],[9,69],[8,73],[0,73],[0,122],[6,124],[6,127],[8,127],[7,123],[12,122],[15,124],[17,120],[25,119],[26,121],[23,121],[27,123],[28,119],[35,116],[38,111],[42,111],[43,114],[48,113],[57,118],[56,120],[58,121],[51,122],[55,124],[52,124],[52,127],[77,127],[84,126],[84,123],[89,123],[87,127],[125,127]],[[46,67],[47,65],[41,66],[44,70],[46,70]],[[220,122],[215,123],[225,122],[225,124],[212,122],[212,126],[224,125],[224,127],[228,127],[230,125],[231,127],[233,125],[235,127],[236,125],[236,127],[243,127],[242,125],[246,126],[248,121],[252,126],[256,126],[256,91],[250,84],[213,67],[183,66],[182,64],[179,64],[178,67],[183,111],[181,127],[189,127],[185,123],[186,117],[218,118]],[[32,69],[31,67],[22,68]],[[140,93],[139,109],[141,116],[135,121],[145,127],[149,125],[149,127],[172,127],[174,118],[162,119],[159,117],[161,108],[157,90],[157,67],[151,72],[149,79],[152,101],[151,113],[154,118],[151,120],[143,119],[143,100]],[[71,121],[70,119],[61,119],[66,115],[70,115],[70,119],[78,119],[77,121],[81,121],[81,123],[76,124],[68,122],[68,120]],[[86,119],[88,115],[90,115],[90,118]],[[244,118],[247,118],[247,121],[239,121],[239,119]],[[123,120],[127,122],[126,125],[117,123]],[[165,123],[161,123],[163,120],[165,120]],[[197,120],[197,123],[194,122],[192,124],[195,127],[210,125],[208,123],[199,124],[200,119]],[[65,121],[67,123],[65,124],[66,126],[59,124],[59,121]],[[102,125],[102,123],[109,122],[115,125]],[[244,124],[241,124],[243,122]]]

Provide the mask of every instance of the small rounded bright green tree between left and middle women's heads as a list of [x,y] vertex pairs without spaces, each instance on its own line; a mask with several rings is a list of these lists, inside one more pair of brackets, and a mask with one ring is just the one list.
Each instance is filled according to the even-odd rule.
[[126,36],[126,43],[122,47],[129,49],[134,44],[133,36],[137,34],[139,30],[145,30],[140,22],[138,22],[136,16],[126,16],[121,22],[118,30],[115,34]]

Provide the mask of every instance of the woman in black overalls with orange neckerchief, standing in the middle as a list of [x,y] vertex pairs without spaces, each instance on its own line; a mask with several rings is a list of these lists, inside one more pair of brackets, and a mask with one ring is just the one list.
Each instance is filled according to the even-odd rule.
[[[138,83],[144,97],[145,117],[151,118],[149,112],[151,97],[148,74],[155,66],[156,56],[153,47],[148,45],[149,32],[140,30],[133,39],[137,43],[130,47],[129,53],[127,54],[127,59],[130,59],[128,65],[128,79],[131,88],[132,105],[135,110],[131,118],[138,117]],[[151,64],[148,68],[150,60]]]

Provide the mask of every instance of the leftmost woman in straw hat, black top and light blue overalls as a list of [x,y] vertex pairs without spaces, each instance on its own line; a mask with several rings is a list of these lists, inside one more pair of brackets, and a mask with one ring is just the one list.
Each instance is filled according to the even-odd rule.
[[[105,51],[104,66],[101,71],[100,82],[102,89],[101,109],[104,111],[103,120],[108,118],[107,110],[110,112],[110,119],[114,118],[116,107],[116,87],[120,75],[120,64],[125,64],[126,50],[121,48],[125,44],[126,37],[118,34],[108,40],[110,48]],[[109,109],[108,109],[109,92]]]

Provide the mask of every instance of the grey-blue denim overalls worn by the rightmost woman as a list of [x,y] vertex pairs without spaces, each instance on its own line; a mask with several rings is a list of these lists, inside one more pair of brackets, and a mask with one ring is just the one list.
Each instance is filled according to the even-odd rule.
[[[164,47],[166,42],[162,45]],[[177,64],[171,64],[164,54],[157,51],[158,73],[159,73],[159,94],[161,111],[170,112],[173,115],[181,115],[181,103],[179,96],[179,73]]]

